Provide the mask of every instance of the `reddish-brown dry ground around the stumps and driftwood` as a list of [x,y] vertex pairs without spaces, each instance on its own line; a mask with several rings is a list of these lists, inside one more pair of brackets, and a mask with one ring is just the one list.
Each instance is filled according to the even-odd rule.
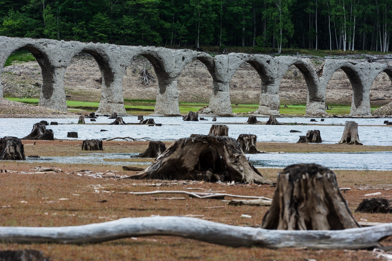
[[[23,141],[29,144],[31,141]],[[80,141],[37,141],[36,145],[25,145],[26,155],[41,154],[42,156],[65,156],[80,153]],[[119,145],[118,143],[122,144]],[[167,143],[167,145],[169,145]],[[305,147],[330,149],[339,148],[353,150],[348,145],[289,144],[289,143],[258,143],[263,150],[282,150],[281,146],[297,151]],[[309,146],[310,145],[310,146]],[[107,141],[103,143],[104,152],[143,152],[148,142]],[[355,146],[355,148],[380,150],[377,146]],[[387,148],[387,147],[383,147]],[[388,147],[388,149],[390,149]],[[338,150],[339,151],[339,150]],[[87,153],[87,152],[82,152]],[[1,161],[1,169],[28,171],[37,163],[19,163]],[[42,167],[51,164],[40,163]],[[125,172],[120,166],[92,164],[54,164],[64,172],[80,169],[93,171],[118,170],[120,174],[131,175],[136,172]],[[123,194],[128,191],[186,190],[186,188],[215,189],[237,195],[258,195],[272,197],[274,188],[267,185],[215,184],[208,182],[189,182],[188,184],[158,186],[159,180],[134,181],[130,179],[94,179],[86,176],[59,174],[20,174],[0,173],[2,193],[0,194],[1,226],[65,226],[83,225],[105,222],[124,217],[142,217],[151,215],[204,215],[204,219],[230,225],[260,226],[268,207],[265,206],[228,206],[221,200],[200,200],[185,197],[185,200],[154,200],[152,197],[182,197],[180,195],[145,195],[136,196]],[[264,177],[276,181],[278,169],[260,169]],[[381,192],[390,199],[392,190],[359,190],[358,187],[373,186],[391,188],[390,171],[335,171],[339,187],[351,187],[343,192],[352,211],[367,193]],[[95,190],[110,191],[97,193]],[[188,190],[192,191],[192,190]],[[194,190],[201,191],[201,190]],[[120,193],[122,192],[122,193]],[[69,198],[70,200],[58,200]],[[229,198],[227,198],[229,199]],[[107,200],[106,202],[104,202]],[[26,201],[27,203],[21,203]],[[57,201],[55,203],[44,203]],[[224,206],[206,209],[205,207]],[[241,214],[252,218],[240,218]],[[392,214],[354,213],[356,220],[368,222],[392,222]],[[384,245],[392,245],[392,240],[383,241]],[[203,243],[196,240],[172,236],[148,236],[137,239],[114,240],[95,244],[15,244],[1,243],[0,250],[38,249],[53,260],[376,260],[370,251],[358,250],[318,250],[318,249],[263,249],[258,247],[232,248]],[[378,259],[379,260],[379,259]]]

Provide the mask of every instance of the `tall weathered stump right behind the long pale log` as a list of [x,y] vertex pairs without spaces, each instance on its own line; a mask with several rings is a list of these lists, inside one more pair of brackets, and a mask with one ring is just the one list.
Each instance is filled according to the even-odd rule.
[[341,230],[360,227],[341,195],[332,170],[295,164],[278,173],[272,205],[261,228]]

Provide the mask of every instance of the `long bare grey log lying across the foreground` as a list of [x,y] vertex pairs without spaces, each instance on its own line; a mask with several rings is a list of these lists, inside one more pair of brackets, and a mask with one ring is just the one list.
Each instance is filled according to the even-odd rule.
[[96,243],[155,235],[181,236],[231,247],[361,249],[377,247],[380,240],[392,235],[392,223],[338,231],[288,231],[154,216],[68,227],[0,227],[0,240],[15,243]]

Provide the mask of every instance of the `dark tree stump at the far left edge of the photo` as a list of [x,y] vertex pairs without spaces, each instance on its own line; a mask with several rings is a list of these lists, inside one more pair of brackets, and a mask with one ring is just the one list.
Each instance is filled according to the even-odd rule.
[[0,160],[25,160],[22,141],[16,137],[0,138]]

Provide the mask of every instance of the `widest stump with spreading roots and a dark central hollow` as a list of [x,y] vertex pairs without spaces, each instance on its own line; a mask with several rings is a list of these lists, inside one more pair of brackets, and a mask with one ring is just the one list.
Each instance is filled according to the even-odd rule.
[[143,172],[129,178],[272,184],[250,165],[235,139],[214,135],[178,139]]

